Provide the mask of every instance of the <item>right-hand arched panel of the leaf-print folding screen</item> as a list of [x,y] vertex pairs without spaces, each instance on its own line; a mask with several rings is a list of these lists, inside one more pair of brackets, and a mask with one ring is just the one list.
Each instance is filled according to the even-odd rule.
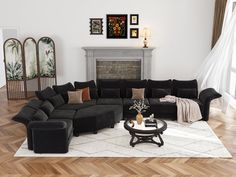
[[55,43],[49,37],[38,41],[38,69],[40,72],[40,90],[56,84]]

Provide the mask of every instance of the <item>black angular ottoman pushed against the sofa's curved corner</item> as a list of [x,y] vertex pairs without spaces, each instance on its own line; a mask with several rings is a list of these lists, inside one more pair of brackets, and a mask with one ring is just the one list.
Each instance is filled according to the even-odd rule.
[[120,105],[95,105],[78,110],[74,116],[74,135],[81,132],[97,133],[99,129],[114,127],[122,118]]

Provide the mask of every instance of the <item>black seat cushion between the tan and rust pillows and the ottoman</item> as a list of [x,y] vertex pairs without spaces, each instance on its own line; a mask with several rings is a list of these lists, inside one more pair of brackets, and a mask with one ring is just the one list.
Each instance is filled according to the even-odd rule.
[[61,105],[59,107],[57,107],[57,109],[60,110],[79,110],[79,109],[83,109],[86,107],[90,107],[96,105],[96,100],[90,100],[90,101],[84,101],[82,104],[64,104]]

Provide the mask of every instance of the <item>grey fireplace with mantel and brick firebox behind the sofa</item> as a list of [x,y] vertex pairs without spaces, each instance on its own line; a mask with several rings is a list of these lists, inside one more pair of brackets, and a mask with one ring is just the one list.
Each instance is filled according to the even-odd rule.
[[150,79],[154,48],[83,47],[87,80]]

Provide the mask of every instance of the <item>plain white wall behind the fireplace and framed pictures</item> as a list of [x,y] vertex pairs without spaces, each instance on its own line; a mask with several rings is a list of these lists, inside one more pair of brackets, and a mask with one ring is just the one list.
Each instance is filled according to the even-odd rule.
[[[58,83],[85,80],[82,46],[142,46],[142,39],[106,39],[106,14],[139,14],[152,32],[152,79],[192,79],[210,51],[215,0],[0,0],[0,26],[21,39],[56,43]],[[104,35],[89,35],[89,18],[104,18]],[[133,26],[136,27],[136,26]]]

